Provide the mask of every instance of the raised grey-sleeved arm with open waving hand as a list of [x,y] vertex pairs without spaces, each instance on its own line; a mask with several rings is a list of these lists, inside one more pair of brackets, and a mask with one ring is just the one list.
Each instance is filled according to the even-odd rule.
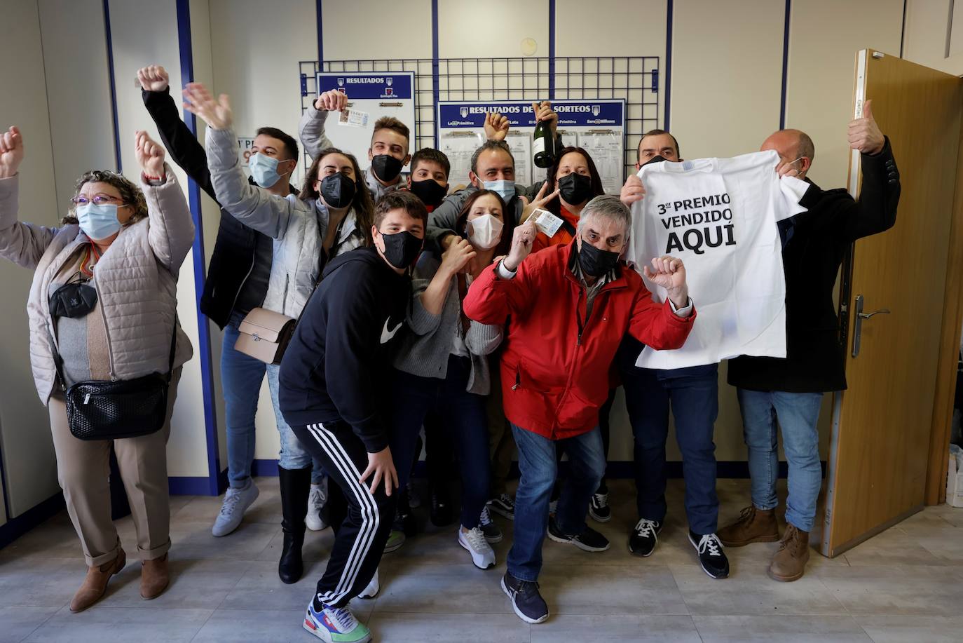
[[184,97],[184,107],[207,122],[207,163],[221,208],[248,228],[275,239],[284,236],[291,217],[308,214],[311,206],[247,182],[231,129],[233,117],[227,94],[215,100],[203,85],[190,83],[184,88]]

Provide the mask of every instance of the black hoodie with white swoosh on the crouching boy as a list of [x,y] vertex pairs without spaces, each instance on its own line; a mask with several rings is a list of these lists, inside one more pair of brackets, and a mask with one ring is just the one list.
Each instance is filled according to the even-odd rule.
[[391,368],[383,331],[398,330],[410,298],[410,279],[375,248],[325,266],[281,361],[278,402],[288,424],[347,422],[369,453],[388,445],[378,412]]

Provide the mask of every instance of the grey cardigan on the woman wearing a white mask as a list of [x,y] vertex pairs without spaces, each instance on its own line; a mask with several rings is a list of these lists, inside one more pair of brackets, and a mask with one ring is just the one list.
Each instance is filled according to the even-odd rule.
[[[423,256],[412,281],[412,306],[405,319],[404,335],[395,357],[395,368],[411,375],[445,379],[448,356],[452,354],[455,329],[461,323],[458,282],[452,278],[445,295],[441,314],[432,315],[422,306],[422,293],[438,270],[433,256]],[[502,343],[502,327],[472,321],[465,334],[465,345],[471,354],[472,372],[465,388],[470,393],[487,395],[491,391],[488,355]]]

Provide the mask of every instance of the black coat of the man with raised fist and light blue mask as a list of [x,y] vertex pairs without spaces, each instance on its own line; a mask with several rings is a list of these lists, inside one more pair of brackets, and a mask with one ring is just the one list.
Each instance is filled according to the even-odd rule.
[[[207,169],[207,154],[204,153],[204,147],[197,142],[195,135],[181,120],[180,112],[169,91],[142,90],[141,94],[147,112],[157,124],[161,141],[164,147],[168,148],[170,160],[193,178],[197,186],[211,199],[218,201],[214,194],[214,186],[211,185],[211,173]],[[296,192],[294,186],[290,186],[290,190],[292,194]],[[221,328],[227,325],[234,304],[238,300],[238,294],[244,287],[247,276],[255,269],[256,248],[259,243],[258,237],[261,236],[264,236],[261,232],[247,228],[221,209],[221,226],[218,228],[214,253],[207,268],[204,291],[200,296],[200,311]],[[272,247],[268,237],[261,239],[260,242],[267,244],[268,248]],[[266,274],[270,272],[270,261],[268,266],[258,267]],[[258,306],[268,293],[267,280],[264,280],[260,289],[263,292],[251,293],[251,299],[256,300]]]

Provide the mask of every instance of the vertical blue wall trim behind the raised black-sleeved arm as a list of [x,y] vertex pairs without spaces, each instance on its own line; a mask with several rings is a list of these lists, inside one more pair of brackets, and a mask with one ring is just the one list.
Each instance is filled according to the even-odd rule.
[[[194,82],[194,50],[191,45],[191,2],[177,0],[177,43],[180,50],[181,81]],[[194,114],[184,110],[184,122],[194,135],[197,135],[197,120]],[[200,386],[204,398],[204,432],[207,436],[207,489],[203,493],[210,496],[221,494],[219,474],[221,454],[218,448],[218,418],[214,405],[214,366],[211,361],[211,329],[207,317],[200,311],[200,296],[204,292],[206,266],[204,265],[204,228],[200,214],[200,188],[188,178],[188,201],[194,219],[194,287],[197,304],[197,359],[200,361]]]

